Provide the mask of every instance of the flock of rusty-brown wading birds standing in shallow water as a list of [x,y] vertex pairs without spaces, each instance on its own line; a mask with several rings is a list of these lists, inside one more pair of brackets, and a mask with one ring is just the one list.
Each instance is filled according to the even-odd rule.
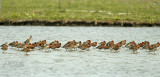
[[[48,49],[58,49],[61,47],[61,43],[59,41],[53,41],[50,44],[47,44],[46,40],[39,41],[39,42],[34,42],[31,43],[32,36],[28,38],[24,43],[18,43],[18,41],[13,41],[12,43],[9,44],[11,47],[15,48],[21,48],[21,51],[30,52],[33,51],[34,49],[40,49],[40,50],[48,50]],[[114,41],[109,41],[108,43],[106,41],[100,42],[99,45],[97,45],[97,42],[91,42],[91,40],[87,40],[85,42],[76,42],[75,40],[73,41],[68,41],[62,48],[65,48],[66,51],[71,51],[71,50],[77,50],[78,48],[81,50],[89,50],[90,47],[95,47],[97,49],[110,49],[111,52],[117,53],[119,52],[118,50],[121,47],[128,48],[133,52],[133,54],[137,54],[137,50],[139,48],[141,49],[147,49],[148,52],[155,52],[157,51],[157,48],[160,46],[160,43],[152,44],[150,45],[149,41],[144,41],[142,43],[136,43],[135,41],[126,43],[126,40],[120,41],[118,43],[114,43]],[[5,44],[1,45],[1,49],[3,50],[3,53],[8,49],[8,42]]]

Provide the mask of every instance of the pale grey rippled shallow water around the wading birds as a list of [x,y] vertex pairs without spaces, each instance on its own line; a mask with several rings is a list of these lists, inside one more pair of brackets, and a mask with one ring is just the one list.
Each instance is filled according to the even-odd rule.
[[[30,35],[33,40],[67,41],[111,41],[160,42],[159,27],[42,27],[42,26],[0,26],[0,44],[24,42]],[[159,77],[160,50],[156,55],[146,50],[139,54],[121,48],[119,53],[90,48],[85,52],[66,52],[65,49],[35,50],[25,56],[24,52],[9,48],[6,54],[0,50],[0,76],[2,77]]]

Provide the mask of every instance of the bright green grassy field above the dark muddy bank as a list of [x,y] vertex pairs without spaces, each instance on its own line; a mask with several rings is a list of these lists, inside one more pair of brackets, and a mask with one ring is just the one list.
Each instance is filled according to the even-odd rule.
[[160,22],[160,0],[2,0],[1,4],[0,20]]

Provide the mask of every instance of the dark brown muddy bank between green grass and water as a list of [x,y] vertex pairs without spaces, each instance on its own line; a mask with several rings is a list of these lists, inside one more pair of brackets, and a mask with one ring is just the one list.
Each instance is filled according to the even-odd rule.
[[106,27],[160,27],[158,23],[148,22],[110,22],[110,21],[68,21],[68,20],[20,20],[20,21],[0,21],[0,26],[106,26]]

